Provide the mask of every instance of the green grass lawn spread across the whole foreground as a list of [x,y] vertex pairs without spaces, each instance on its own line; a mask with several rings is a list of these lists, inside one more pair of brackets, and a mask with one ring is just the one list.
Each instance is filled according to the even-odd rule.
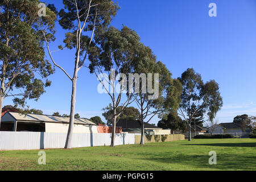
[[[46,165],[39,150],[0,151],[0,170],[256,170],[256,139],[194,139],[177,142],[53,149]],[[209,151],[217,165],[209,165]]]

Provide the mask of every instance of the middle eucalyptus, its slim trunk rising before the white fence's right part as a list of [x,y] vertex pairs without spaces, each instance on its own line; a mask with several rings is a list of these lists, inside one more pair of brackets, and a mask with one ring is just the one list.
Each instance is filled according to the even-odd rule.
[[[133,73],[133,63],[141,43],[137,33],[126,26],[123,26],[122,30],[114,27],[101,29],[97,31],[94,39],[96,46],[90,48],[89,68],[90,73],[97,76],[103,87],[98,91],[108,94],[112,102],[111,146],[114,147],[117,118],[133,102],[129,86],[127,86],[129,80],[127,77],[129,73]],[[124,93],[127,93],[127,97],[121,103]],[[119,106],[121,109],[118,109]]]

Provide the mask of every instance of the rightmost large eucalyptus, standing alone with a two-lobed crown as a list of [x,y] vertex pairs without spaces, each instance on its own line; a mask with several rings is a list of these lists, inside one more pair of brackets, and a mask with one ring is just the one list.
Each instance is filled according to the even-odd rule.
[[[216,81],[210,80],[204,84],[201,75],[193,68],[188,68],[179,78],[183,85],[179,115],[187,121],[188,140],[191,141],[191,122],[196,114],[203,112],[213,122],[216,113],[221,109],[223,102],[220,88]],[[194,106],[196,109],[192,109]]]

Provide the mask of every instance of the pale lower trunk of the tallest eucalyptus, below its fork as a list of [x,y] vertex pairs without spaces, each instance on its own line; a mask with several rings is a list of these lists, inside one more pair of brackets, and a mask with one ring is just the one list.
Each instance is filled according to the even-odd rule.
[[76,82],[77,78],[72,81],[72,95],[71,95],[71,111],[69,118],[69,127],[68,134],[65,143],[65,148],[72,148],[72,134],[73,134],[73,125],[75,121],[75,106],[76,106]]

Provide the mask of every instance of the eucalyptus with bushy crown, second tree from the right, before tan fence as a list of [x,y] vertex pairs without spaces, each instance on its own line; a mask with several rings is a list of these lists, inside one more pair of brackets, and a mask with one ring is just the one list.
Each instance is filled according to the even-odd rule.
[[[178,80],[171,78],[171,72],[161,61],[156,62],[156,56],[149,47],[142,45],[137,59],[134,72],[139,75],[139,79],[135,80],[134,86],[137,84],[136,87],[140,89],[133,94],[133,97],[140,111],[141,144],[144,144],[144,123],[150,122],[155,115],[163,117],[170,110],[177,110],[180,103],[181,84]],[[151,79],[152,75],[154,80]]]

